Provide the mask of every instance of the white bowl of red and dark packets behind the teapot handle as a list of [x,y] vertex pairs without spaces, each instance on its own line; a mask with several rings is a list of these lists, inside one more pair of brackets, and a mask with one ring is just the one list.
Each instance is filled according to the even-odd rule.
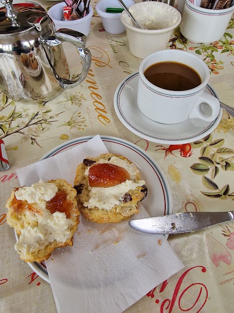
[[[56,30],[59,30],[60,28],[68,28],[76,30],[87,36],[90,31],[91,19],[94,13],[92,6],[91,5],[89,6],[88,14],[82,19],[75,21],[62,21],[64,6],[66,6],[66,3],[60,2],[58,4],[53,5],[47,12],[49,17],[55,23]],[[84,8],[83,3],[80,4],[79,8],[83,10]]]

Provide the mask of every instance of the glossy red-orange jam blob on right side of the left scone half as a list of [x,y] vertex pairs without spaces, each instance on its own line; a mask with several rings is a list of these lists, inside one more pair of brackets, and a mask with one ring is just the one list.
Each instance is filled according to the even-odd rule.
[[46,208],[50,210],[51,214],[61,212],[70,218],[72,202],[67,199],[67,194],[64,191],[58,191],[52,199],[46,202]]

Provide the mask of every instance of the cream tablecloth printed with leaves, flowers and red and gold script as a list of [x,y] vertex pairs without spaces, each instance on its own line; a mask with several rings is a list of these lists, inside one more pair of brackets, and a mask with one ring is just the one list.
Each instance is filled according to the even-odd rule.
[[[46,8],[56,2],[41,0],[40,3]],[[218,42],[188,43],[176,29],[168,44],[168,48],[183,49],[202,58],[211,71],[210,83],[220,99],[231,106],[234,105],[233,36],[231,20],[227,33]],[[16,169],[37,161],[67,140],[101,134],[136,143],[164,171],[172,190],[174,212],[234,209],[234,118],[223,112],[211,135],[186,145],[164,145],[165,150],[156,151],[157,143],[128,131],[114,110],[113,97],[118,84],[137,71],[141,61],[130,53],[126,33],[110,35],[103,31],[95,12],[87,46],[92,53],[92,66],[86,80],[77,88],[64,91],[42,105],[5,101],[0,94],[0,138],[5,141],[11,165],[8,171],[0,173],[2,313],[57,312],[50,284],[22,262],[14,250],[15,236],[6,224],[5,202],[11,189],[19,186]],[[76,52],[70,46],[65,48],[74,60],[72,55],[75,57]],[[165,157],[166,150],[172,153]],[[149,291],[126,312],[234,312],[234,222],[169,236],[168,240],[186,267]]]

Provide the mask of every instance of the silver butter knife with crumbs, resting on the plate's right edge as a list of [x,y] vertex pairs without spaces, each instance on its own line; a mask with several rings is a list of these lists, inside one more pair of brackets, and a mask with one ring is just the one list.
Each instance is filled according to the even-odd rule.
[[184,212],[129,221],[129,225],[149,234],[179,234],[234,220],[234,211]]

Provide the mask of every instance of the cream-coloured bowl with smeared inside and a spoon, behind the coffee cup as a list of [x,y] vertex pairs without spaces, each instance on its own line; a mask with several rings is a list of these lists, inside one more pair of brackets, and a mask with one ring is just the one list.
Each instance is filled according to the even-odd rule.
[[158,1],[136,3],[130,6],[129,11],[139,25],[145,28],[137,28],[125,11],[121,13],[131,53],[144,59],[153,52],[166,49],[173,30],[181,21],[179,11]]

